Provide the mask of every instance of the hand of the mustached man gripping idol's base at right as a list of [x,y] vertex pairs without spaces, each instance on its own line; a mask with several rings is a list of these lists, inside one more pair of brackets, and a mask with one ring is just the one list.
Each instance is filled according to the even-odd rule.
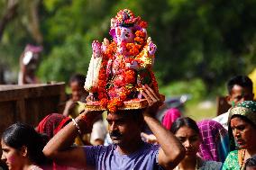
[[143,85],[142,87],[143,91],[142,91],[142,95],[145,97],[145,99],[147,99],[149,106],[148,108],[145,110],[145,112],[143,113],[148,114],[148,115],[155,115],[160,107],[160,105],[162,104],[162,102],[160,101],[160,96],[159,94],[156,94],[151,87],[149,87],[149,85]]

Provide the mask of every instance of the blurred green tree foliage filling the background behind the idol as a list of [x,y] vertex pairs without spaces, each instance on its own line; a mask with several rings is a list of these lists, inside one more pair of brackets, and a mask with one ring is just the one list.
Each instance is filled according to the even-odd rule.
[[[0,1],[1,12],[6,2]],[[14,70],[25,44],[33,42],[25,26],[30,24],[29,2],[21,1],[19,15],[0,44],[1,62]],[[67,81],[75,72],[86,75],[92,41],[110,39],[110,19],[123,8],[149,23],[148,33],[158,46],[154,71],[165,93],[196,98],[222,93],[219,86],[230,76],[248,74],[255,67],[256,1],[49,0],[39,7],[44,40],[41,80]]]

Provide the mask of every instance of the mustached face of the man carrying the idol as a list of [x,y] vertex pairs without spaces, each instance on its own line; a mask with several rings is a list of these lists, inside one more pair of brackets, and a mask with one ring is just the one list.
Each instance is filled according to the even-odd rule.
[[133,145],[134,139],[140,137],[141,134],[142,127],[139,121],[134,121],[133,117],[128,114],[131,113],[108,113],[106,118],[110,138],[114,144],[119,146]]

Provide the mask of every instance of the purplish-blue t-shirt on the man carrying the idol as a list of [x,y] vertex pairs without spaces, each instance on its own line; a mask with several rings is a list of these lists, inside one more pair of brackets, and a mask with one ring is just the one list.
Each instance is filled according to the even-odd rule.
[[86,146],[87,167],[98,170],[153,170],[163,169],[158,164],[159,145],[144,143],[130,155],[122,155],[117,146]]

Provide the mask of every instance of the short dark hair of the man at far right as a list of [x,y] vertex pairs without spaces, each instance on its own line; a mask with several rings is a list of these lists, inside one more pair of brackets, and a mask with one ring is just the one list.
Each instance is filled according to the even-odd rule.
[[252,81],[248,76],[233,76],[228,82],[227,82],[227,90],[228,93],[231,94],[233,86],[234,85],[240,85],[242,87],[247,87],[251,90],[252,93]]

